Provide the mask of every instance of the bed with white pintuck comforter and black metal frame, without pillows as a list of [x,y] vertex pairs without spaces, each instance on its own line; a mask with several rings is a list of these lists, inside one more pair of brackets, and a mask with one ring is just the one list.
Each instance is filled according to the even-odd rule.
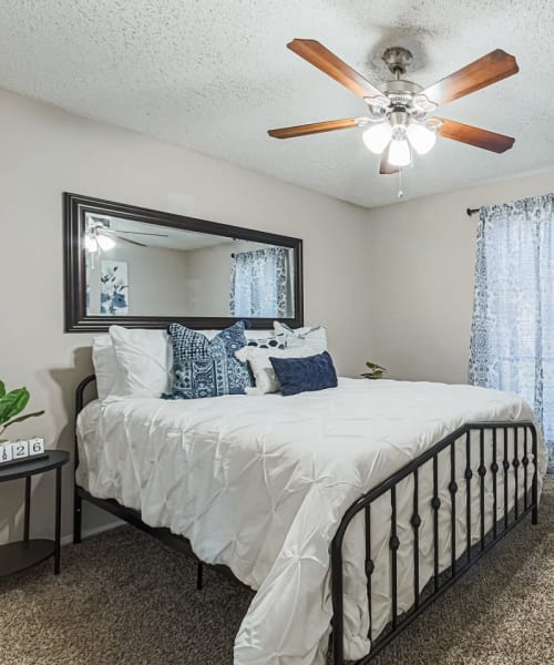
[[329,648],[366,663],[537,520],[546,454],[513,393],[341,378],[288,398],[84,407],[92,379],[76,396],[75,541],[84,499],[230,570],[256,591],[236,665],[320,664]]

